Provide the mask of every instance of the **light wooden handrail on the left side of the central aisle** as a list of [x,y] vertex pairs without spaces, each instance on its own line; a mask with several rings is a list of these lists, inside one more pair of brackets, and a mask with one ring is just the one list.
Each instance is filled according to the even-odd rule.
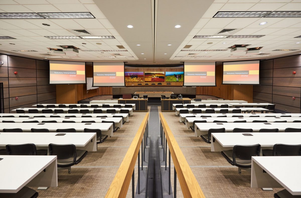
[[130,145],[125,157],[122,160],[122,163],[120,164],[109,190],[107,191],[105,196],[106,198],[126,197],[148,118],[149,113],[146,113],[132,141],[132,144]]

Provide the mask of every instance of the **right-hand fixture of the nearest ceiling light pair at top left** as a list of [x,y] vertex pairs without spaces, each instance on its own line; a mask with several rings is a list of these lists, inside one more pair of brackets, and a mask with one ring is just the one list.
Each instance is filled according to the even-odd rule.
[[53,12],[38,13],[46,19],[87,19],[95,18],[90,12]]

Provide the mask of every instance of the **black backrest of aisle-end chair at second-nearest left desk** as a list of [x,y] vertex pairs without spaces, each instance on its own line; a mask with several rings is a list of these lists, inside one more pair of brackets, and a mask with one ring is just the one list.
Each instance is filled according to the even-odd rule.
[[56,145],[49,144],[49,155],[57,155],[58,160],[66,160],[73,157],[73,162],[76,161],[76,146],[73,144],[69,145]]

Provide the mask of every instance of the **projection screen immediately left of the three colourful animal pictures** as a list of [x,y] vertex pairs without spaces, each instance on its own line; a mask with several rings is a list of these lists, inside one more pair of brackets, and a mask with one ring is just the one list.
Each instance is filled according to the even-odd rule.
[[123,62],[93,62],[93,87],[124,87]]

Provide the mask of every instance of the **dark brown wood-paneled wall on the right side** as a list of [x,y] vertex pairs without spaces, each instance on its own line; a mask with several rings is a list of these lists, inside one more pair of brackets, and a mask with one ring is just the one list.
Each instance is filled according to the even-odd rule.
[[276,109],[300,113],[301,55],[260,61],[259,76],[261,85],[253,87],[254,102],[269,102]]

